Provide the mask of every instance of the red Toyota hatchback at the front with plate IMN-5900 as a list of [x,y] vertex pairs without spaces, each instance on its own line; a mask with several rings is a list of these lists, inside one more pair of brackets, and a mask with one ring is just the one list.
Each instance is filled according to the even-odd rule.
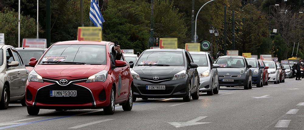
[[103,109],[112,115],[116,104],[130,111],[133,64],[116,53],[114,44],[105,41],[64,41],[50,46],[39,60],[29,62],[34,67],[26,83],[29,115],[37,115],[40,109]]

